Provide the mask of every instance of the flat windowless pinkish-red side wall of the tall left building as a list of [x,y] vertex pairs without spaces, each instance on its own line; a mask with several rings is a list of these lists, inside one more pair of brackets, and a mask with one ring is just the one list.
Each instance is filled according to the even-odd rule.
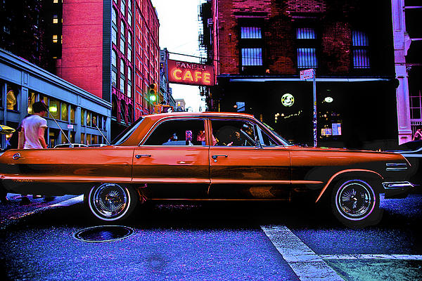
[[58,72],[102,98],[102,71],[103,1],[63,0],[63,51]]

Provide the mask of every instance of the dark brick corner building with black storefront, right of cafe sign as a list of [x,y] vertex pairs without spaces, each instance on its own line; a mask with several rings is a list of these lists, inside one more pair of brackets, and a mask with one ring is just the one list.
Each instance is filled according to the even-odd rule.
[[312,145],[312,83],[300,71],[313,68],[319,145],[397,143],[391,3],[211,0],[201,16],[217,76],[212,110],[245,103],[282,136]]

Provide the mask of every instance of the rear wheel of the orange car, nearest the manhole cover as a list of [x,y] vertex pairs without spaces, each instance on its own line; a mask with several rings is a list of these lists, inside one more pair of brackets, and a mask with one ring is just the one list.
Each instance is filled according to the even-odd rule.
[[94,216],[103,221],[127,218],[138,202],[136,191],[117,183],[102,183],[89,190],[88,207]]

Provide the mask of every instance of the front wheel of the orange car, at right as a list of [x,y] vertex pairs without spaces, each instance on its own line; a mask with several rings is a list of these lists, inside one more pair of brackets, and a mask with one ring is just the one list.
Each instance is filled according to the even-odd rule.
[[331,209],[345,226],[363,228],[381,221],[380,195],[369,182],[347,179],[338,182],[331,192]]

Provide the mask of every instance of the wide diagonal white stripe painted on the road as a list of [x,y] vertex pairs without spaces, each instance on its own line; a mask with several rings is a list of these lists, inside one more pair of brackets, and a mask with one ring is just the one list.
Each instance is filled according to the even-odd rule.
[[333,268],[286,226],[261,226],[301,281],[344,281]]

